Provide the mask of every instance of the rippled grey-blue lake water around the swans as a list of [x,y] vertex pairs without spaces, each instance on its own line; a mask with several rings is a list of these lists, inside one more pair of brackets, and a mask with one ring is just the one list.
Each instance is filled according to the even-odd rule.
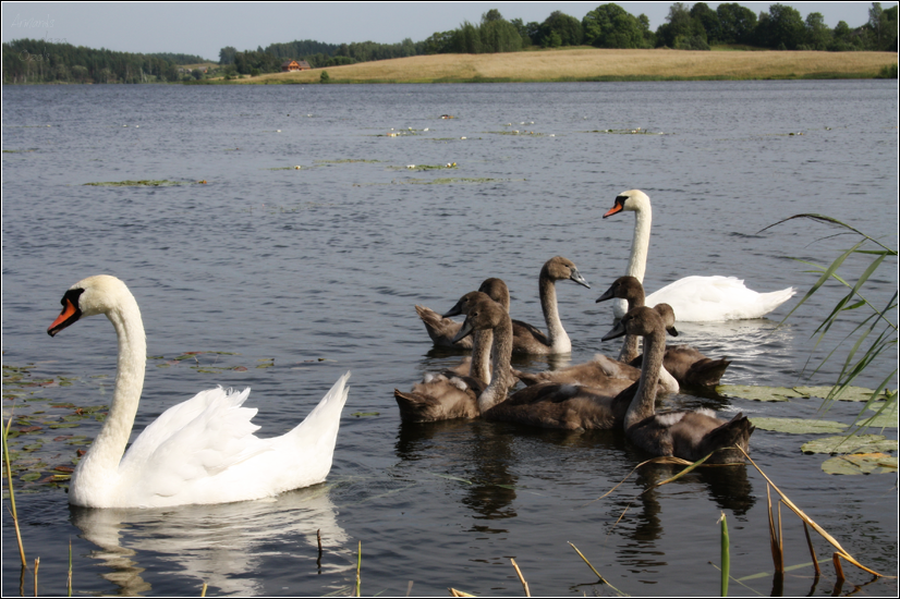
[[[80,595],[198,595],[203,583],[210,596],[348,595],[358,543],[364,595],[521,595],[510,558],[535,595],[611,594],[572,542],[623,592],[716,595],[722,513],[732,576],[768,573],[730,592],[778,592],[766,484],[750,465],[640,494],[674,472],[650,466],[597,500],[647,457],[620,432],[402,424],[393,389],[459,359],[434,350],[413,306],[447,310],[500,277],[513,316],[543,326],[537,274],[562,255],[592,285],[558,285],[572,354],[518,366],[615,353],[600,342],[611,306],[594,301],[624,271],[633,217],[600,217],[641,188],[654,203],[648,290],[686,274],[800,290],[767,319],[683,323],[679,342],[731,358],[725,383],[830,384],[840,360],[815,367],[854,325],[818,347],[814,330],[840,285],[776,325],[817,277],[791,258],[828,264],[856,240],[805,220],[758,232],[816,212],[896,248],[897,114],[896,81],[4,87],[3,415],[15,404],[15,428],[41,426],[11,440],[23,472],[40,473],[16,481],[38,592],[65,592],[71,541]],[[624,133],[637,127],[652,135]],[[84,185],[125,180],[206,184]],[[851,258],[847,276],[865,264]],[[53,339],[46,329],[63,292],[97,273],[129,284],[147,328],[133,438],[216,384],[252,387],[259,433],[280,435],[351,370],[327,482],[230,505],[71,509],[42,480],[97,435],[74,406],[109,401],[115,337],[104,318]],[[897,289],[895,260],[866,294],[880,307]],[[186,352],[207,353],[174,359]],[[8,366],[29,365],[13,380]],[[896,366],[895,349],[859,382],[877,386]],[[860,409],[716,394],[666,403],[847,424]],[[896,425],[884,433],[897,439]],[[825,474],[827,455],[800,451],[818,437],[757,429],[751,454],[858,560],[897,574],[897,476]],[[787,509],[782,518],[787,565],[808,563],[802,524]],[[14,539],[3,510],[3,594],[33,595]],[[822,579],[791,571],[785,594],[896,596],[896,579],[849,564],[836,585],[832,549],[813,542]]]

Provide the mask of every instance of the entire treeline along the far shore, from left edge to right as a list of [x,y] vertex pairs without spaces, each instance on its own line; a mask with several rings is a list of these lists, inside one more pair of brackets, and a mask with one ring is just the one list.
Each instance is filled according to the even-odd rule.
[[[850,27],[840,21],[832,29],[822,13],[800,13],[771,4],[758,15],[735,2],[716,10],[705,2],[689,8],[676,2],[666,23],[650,30],[646,15],[634,16],[618,4],[600,4],[581,20],[555,11],[543,23],[507,21],[497,9],[477,24],[464,21],[458,28],[437,32],[422,41],[399,44],[362,41],[324,44],[311,39],[271,44],[239,52],[228,46],[219,64],[228,75],[275,73],[287,60],[305,60],[313,68],[437,53],[514,52],[530,47],[559,48],[674,48],[708,50],[710,46],[746,46],[773,50],[874,50],[897,52],[898,8],[884,10],[873,2],[868,22]],[[17,39],[2,45],[3,83],[151,83],[200,78],[198,70],[184,73],[179,64],[204,62],[178,53],[133,54],[94,50],[71,44]]]

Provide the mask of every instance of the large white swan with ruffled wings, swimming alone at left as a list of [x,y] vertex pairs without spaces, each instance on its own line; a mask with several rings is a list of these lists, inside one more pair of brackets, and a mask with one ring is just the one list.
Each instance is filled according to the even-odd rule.
[[163,412],[125,445],[144,387],[147,344],[137,302],[107,274],[78,281],[62,297],[54,335],[85,316],[105,314],[119,338],[115,389],[109,416],[69,487],[69,502],[85,508],[160,508],[228,503],[275,496],[325,480],[346,401],[350,372],[296,428],[271,439],[253,433],[256,408],[241,407],[250,389],[197,393]]

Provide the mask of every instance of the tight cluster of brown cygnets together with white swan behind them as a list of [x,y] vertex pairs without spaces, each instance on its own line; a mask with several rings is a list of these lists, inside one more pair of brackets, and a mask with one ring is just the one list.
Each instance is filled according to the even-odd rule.
[[[621,210],[637,212],[631,261],[638,262],[640,269],[630,269],[631,274],[617,279],[597,300],[627,302],[628,311],[601,338],[624,337],[618,358],[598,354],[585,364],[537,374],[511,368],[513,353],[546,355],[572,350],[559,318],[556,282],[568,279],[589,285],[571,260],[556,256],[544,265],[539,277],[546,334],[510,318],[509,290],[500,279],[485,280],[478,291],[463,295],[443,315],[416,306],[436,345],[471,349],[472,356],[455,368],[426,375],[410,392],[394,390],[401,418],[485,418],[567,430],[619,429],[654,455],[695,462],[712,453],[707,463],[743,462],[737,448],[747,451],[754,427],[742,414],[723,420],[705,408],[656,412],[658,394],[715,386],[730,364],[686,345],[667,347],[666,334],[678,334],[677,319],[758,318],[793,295],[793,289],[759,294],[733,278],[689,277],[645,300],[638,277],[643,277],[647,255],[649,198],[637,190],[623,192],[604,218]],[[698,293],[698,289],[707,292]],[[698,297],[713,297],[715,305],[691,305]],[[681,318],[673,306],[689,317]],[[710,314],[714,317],[707,318]],[[465,321],[449,318],[457,315],[464,315]],[[638,338],[644,340],[643,356],[638,355]],[[525,387],[508,394],[516,381]]]

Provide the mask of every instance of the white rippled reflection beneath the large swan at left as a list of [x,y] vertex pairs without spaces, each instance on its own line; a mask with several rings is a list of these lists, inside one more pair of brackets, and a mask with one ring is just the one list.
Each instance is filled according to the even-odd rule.
[[[218,505],[70,509],[81,537],[98,547],[90,557],[108,569],[102,577],[117,587],[110,594],[159,594],[142,577],[142,562],[153,560],[171,563],[170,570],[163,565],[158,574],[196,576],[198,586],[206,583],[216,595],[267,595],[259,562],[279,553],[290,554],[295,565],[302,560],[297,570],[311,576],[331,575],[319,583],[319,594],[329,583],[332,590],[349,585],[349,574],[342,573],[355,567],[328,490],[317,485],[271,499]],[[317,530],[324,549],[320,565]],[[341,555],[337,563],[336,553]],[[306,595],[300,589],[293,592]]]

